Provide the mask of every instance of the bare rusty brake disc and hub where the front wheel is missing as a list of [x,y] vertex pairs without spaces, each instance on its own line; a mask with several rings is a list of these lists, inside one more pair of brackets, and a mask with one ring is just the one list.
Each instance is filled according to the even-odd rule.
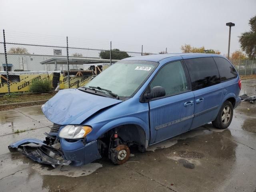
[[[124,153],[123,153],[124,152]],[[122,156],[124,154],[124,156]],[[118,145],[110,150],[110,160],[114,164],[123,164],[130,157],[130,149],[127,145]]]

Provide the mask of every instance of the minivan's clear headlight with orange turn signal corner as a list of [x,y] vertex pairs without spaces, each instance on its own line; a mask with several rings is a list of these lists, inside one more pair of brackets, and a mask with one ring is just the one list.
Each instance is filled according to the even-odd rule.
[[90,126],[82,125],[66,125],[60,130],[59,136],[65,139],[80,139],[84,138],[92,131]]

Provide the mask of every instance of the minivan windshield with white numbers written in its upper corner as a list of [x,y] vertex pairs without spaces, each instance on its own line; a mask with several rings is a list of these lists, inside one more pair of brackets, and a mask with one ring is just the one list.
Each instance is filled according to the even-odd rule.
[[157,62],[122,60],[96,76],[86,87],[100,87],[119,97],[130,97],[157,66]]

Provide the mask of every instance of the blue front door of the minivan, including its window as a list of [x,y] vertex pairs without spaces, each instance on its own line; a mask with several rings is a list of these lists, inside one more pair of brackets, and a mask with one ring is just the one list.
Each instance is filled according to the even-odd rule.
[[166,95],[151,99],[150,144],[176,136],[190,129],[194,117],[194,94],[186,76],[184,64],[179,61],[164,65],[150,83],[162,86]]

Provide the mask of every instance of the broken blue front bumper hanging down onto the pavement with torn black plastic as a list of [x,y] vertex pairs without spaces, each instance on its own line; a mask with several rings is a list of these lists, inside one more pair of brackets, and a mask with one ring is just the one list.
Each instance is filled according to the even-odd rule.
[[[27,144],[36,144],[37,146],[28,146]],[[56,165],[73,165],[80,166],[88,164],[96,159],[101,158],[98,152],[97,140],[83,144],[81,140],[68,142],[60,138],[61,149],[56,149],[46,141],[35,138],[26,138],[10,144],[8,148],[20,149],[22,154],[28,158],[42,163]]]

